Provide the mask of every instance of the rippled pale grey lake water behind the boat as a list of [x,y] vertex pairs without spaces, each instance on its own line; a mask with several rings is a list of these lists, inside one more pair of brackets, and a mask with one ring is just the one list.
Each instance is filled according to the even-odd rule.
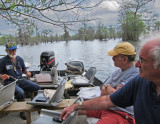
[[[80,60],[84,62],[86,70],[92,66],[96,67],[96,76],[104,81],[115,70],[112,57],[107,55],[107,51],[113,49],[119,42],[120,39],[42,43],[34,46],[18,46],[17,53],[31,64],[29,70],[39,70],[40,54],[52,50],[55,52],[56,63],[59,63],[58,69],[66,68],[65,62]],[[133,45],[139,52],[137,42],[133,42]],[[4,46],[0,46],[0,54],[6,54]]]

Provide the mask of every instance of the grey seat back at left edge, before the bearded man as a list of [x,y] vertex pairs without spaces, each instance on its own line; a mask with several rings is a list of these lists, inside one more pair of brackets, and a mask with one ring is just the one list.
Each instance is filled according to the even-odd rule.
[[14,101],[16,81],[0,87],[0,110],[9,106]]

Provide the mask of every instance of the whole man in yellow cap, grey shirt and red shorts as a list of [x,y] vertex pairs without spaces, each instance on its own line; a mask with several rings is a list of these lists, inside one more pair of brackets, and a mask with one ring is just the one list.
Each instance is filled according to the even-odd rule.
[[[138,74],[139,70],[135,67],[135,48],[128,42],[119,43],[113,50],[108,52],[113,56],[114,65],[119,67],[105,82],[101,88],[101,96],[110,95],[120,89],[125,83]],[[88,117],[96,117],[97,124],[131,124],[134,122],[133,107],[115,107],[103,111],[79,111],[79,115],[86,114]],[[126,119],[128,118],[128,119]],[[87,121],[91,121],[87,119]]]

